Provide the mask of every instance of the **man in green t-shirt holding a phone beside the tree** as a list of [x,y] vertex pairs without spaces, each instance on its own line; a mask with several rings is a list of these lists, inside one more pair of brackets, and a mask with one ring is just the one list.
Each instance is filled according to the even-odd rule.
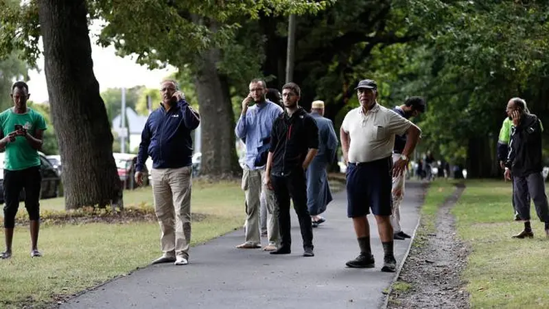
[[31,257],[41,256],[38,251],[38,227],[40,226],[40,157],[44,117],[27,107],[29,87],[25,82],[12,86],[14,106],[0,113],[0,149],[5,149],[4,161],[4,229],[5,251],[1,259],[12,256],[12,239],[15,215],[19,208],[19,194],[25,189],[25,208],[30,218]]

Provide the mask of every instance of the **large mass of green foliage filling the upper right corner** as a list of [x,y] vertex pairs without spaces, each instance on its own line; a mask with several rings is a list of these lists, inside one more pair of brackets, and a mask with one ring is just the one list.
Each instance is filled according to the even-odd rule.
[[549,47],[549,3],[411,0],[395,1],[394,8],[421,35],[373,49],[364,69],[383,81],[382,102],[427,98],[428,113],[417,119],[420,148],[465,163],[469,141],[495,144],[506,102],[524,98],[547,76],[541,55]]

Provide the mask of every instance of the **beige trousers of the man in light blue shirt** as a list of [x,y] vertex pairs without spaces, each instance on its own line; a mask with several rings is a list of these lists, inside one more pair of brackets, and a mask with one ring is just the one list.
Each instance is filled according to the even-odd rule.
[[242,174],[242,190],[246,194],[246,242],[261,244],[259,231],[259,211],[261,209],[261,192],[265,196],[267,208],[267,238],[269,244],[277,246],[279,242],[278,207],[274,191],[269,190],[264,183],[265,170],[250,170],[244,167]]

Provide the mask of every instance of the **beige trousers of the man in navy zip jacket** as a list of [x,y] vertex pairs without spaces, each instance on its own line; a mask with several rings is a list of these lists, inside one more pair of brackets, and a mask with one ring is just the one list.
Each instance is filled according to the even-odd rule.
[[165,255],[189,258],[191,243],[191,166],[152,169],[154,211]]

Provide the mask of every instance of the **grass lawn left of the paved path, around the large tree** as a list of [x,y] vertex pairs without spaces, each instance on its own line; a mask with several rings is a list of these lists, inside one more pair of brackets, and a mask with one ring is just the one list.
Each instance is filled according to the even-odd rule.
[[[143,203],[152,205],[150,187],[124,192],[126,207]],[[43,200],[40,207],[62,210],[64,199]],[[240,182],[211,185],[195,181],[191,209],[210,215],[193,223],[192,244],[242,227],[245,214]],[[28,227],[16,228],[13,257],[0,261],[0,308],[21,308],[31,301],[34,306],[46,304],[58,295],[71,295],[146,266],[161,254],[159,235],[156,222],[43,225],[39,247],[44,256],[32,259]],[[0,237],[3,248],[3,230]]]

